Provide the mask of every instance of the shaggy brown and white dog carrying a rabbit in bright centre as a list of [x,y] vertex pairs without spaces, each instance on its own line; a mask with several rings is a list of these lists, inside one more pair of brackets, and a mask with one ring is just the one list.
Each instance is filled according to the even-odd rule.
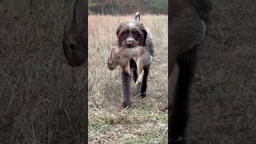
[[[118,47],[133,49],[137,46],[144,46],[147,53],[153,58],[154,44],[150,30],[137,20],[128,20],[122,22],[116,31],[118,37]],[[130,74],[126,72],[125,66],[122,66],[122,88],[123,88],[123,103],[122,106],[130,106],[130,79],[131,75],[134,82],[138,79],[138,66],[134,59],[130,59]],[[109,66],[110,67],[110,66]],[[142,68],[143,76],[140,89],[142,97],[146,96],[147,77],[150,71],[150,63]]]

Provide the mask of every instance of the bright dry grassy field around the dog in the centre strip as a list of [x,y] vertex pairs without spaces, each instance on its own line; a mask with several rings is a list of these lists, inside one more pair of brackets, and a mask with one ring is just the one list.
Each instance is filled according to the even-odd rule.
[[90,143],[167,143],[166,15],[142,15],[142,22],[154,36],[154,62],[151,65],[146,98],[134,94],[132,106],[123,109],[120,69],[110,71],[107,58],[117,47],[116,29],[128,16],[89,15],[89,142]]

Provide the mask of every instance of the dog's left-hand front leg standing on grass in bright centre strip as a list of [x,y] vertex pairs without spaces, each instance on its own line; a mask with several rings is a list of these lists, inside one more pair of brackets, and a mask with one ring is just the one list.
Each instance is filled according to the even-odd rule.
[[125,67],[122,67],[122,106],[126,108],[130,106],[130,74],[126,72]]

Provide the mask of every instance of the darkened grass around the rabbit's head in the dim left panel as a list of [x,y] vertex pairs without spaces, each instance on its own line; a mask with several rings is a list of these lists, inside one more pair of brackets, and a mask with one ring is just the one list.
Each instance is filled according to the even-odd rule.
[[73,6],[0,0],[0,143],[87,143],[88,61],[71,68],[62,50]]

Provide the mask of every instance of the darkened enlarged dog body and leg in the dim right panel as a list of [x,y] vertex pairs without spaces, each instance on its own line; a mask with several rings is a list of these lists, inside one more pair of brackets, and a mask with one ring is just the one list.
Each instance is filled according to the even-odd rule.
[[209,22],[208,0],[170,1],[169,21],[169,138],[172,143],[187,143],[190,86],[194,77],[198,45]]

